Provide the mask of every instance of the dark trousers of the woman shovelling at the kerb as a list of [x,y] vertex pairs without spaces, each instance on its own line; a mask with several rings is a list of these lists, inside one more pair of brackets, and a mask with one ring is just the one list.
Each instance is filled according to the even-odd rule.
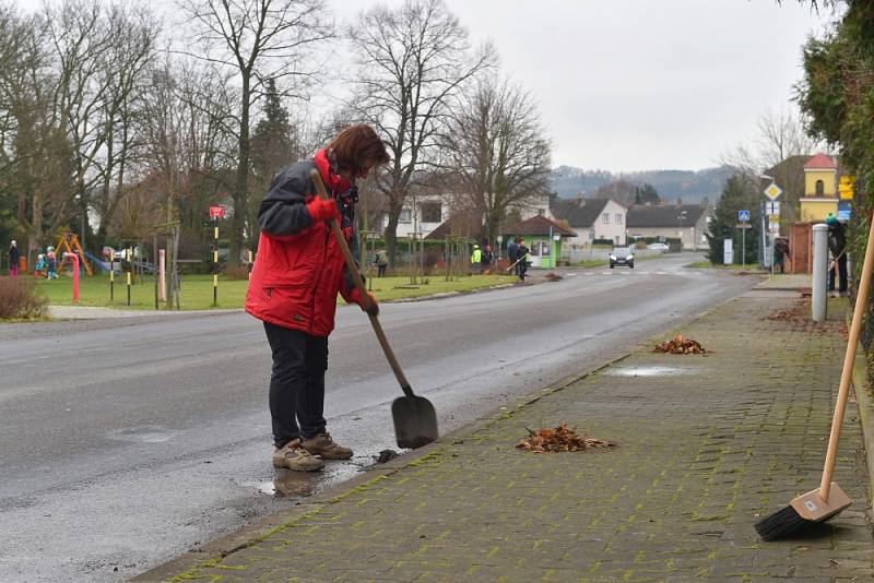
[[293,439],[324,432],[328,338],[269,322],[264,322],[264,331],[273,350],[270,377],[273,443],[282,448]]

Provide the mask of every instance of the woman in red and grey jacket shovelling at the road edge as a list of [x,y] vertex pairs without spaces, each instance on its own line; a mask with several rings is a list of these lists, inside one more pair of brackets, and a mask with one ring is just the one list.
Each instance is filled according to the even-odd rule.
[[[388,160],[376,132],[353,126],[314,158],[280,172],[261,201],[261,237],[246,311],[264,322],[273,352],[270,416],[276,467],[311,472],[324,466],[322,460],[352,457],[352,450],[326,431],[328,335],[334,328],[338,293],[369,313],[377,313],[378,307],[373,296],[362,297],[353,285],[329,221],[340,221],[357,257],[355,180]],[[312,168],[318,168],[331,200],[314,194]]]

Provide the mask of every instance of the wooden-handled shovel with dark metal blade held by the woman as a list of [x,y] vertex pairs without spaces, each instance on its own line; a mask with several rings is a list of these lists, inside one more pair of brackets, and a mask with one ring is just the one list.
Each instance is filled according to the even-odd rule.
[[[314,168],[309,176],[312,179],[312,183],[316,186],[316,193],[319,198],[328,200],[328,192],[324,190],[319,170]],[[346,266],[352,274],[355,287],[361,293],[364,301],[369,304],[369,296],[364,287],[364,282],[358,273],[358,266],[355,264],[352,251],[349,249],[346,238],[343,236],[340,224],[335,218],[332,218],[330,223],[336,243],[340,246],[343,258],[346,260]],[[369,313],[367,316],[370,318],[374,333],[376,333],[379,345],[386,354],[386,359],[389,361],[391,370],[394,371],[394,377],[398,379],[404,394],[404,396],[399,396],[391,404],[391,417],[394,420],[394,436],[398,440],[398,447],[416,449],[422,445],[427,445],[439,437],[437,432],[437,413],[434,411],[434,405],[424,396],[417,396],[413,393],[413,389],[410,386],[406,377],[404,377],[403,370],[401,370],[401,365],[398,362],[398,358],[391,349],[386,333],[382,331],[379,318]]]

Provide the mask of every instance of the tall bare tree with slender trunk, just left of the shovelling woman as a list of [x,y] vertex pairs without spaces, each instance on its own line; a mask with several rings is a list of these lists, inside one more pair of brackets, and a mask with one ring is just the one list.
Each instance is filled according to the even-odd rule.
[[235,212],[228,263],[237,265],[247,231],[252,106],[273,80],[284,96],[306,96],[316,83],[315,50],[334,36],[323,0],[182,0],[205,53],[194,57],[235,71],[239,82],[236,119],[237,165],[232,198]]

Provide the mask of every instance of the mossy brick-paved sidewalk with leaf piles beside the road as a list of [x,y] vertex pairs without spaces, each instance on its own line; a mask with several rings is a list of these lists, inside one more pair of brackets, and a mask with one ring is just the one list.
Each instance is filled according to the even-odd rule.
[[[142,579],[872,581],[854,402],[836,469],[853,505],[793,540],[753,528],[818,487],[840,377],[842,313],[764,318],[790,305],[733,300],[682,330],[709,356],[641,349]],[[564,421],[618,447],[516,449]]]

